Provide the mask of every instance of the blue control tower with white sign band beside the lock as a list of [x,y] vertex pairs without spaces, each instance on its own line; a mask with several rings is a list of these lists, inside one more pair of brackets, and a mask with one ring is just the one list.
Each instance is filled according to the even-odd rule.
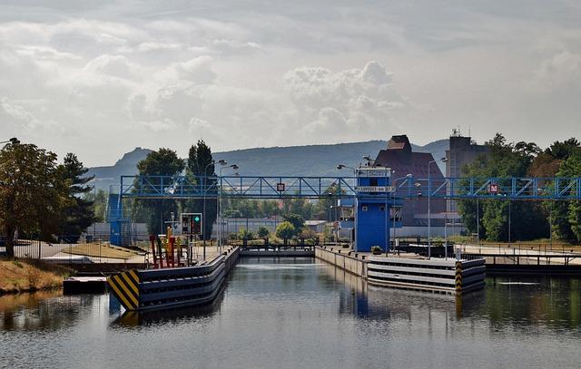
[[401,199],[391,186],[391,170],[361,167],[357,170],[355,197],[355,251],[369,252],[379,246],[389,249],[392,228],[401,227]]

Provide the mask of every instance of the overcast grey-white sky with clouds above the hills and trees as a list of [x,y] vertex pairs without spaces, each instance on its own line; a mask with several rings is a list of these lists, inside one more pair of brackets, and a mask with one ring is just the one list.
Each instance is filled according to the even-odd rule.
[[581,137],[578,1],[0,0],[0,141],[111,165],[387,140]]

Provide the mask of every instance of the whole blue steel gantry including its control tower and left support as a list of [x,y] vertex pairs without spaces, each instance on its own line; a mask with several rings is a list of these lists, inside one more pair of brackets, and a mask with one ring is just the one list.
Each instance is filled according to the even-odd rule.
[[123,199],[346,199],[355,209],[356,249],[389,248],[389,229],[401,227],[403,199],[581,200],[581,178],[430,178],[392,183],[389,168],[363,167],[355,177],[122,176],[109,197],[111,241],[124,244],[129,218]]

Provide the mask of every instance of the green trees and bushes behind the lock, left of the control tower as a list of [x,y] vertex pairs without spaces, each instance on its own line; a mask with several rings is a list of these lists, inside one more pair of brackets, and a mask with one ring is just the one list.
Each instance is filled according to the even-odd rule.
[[[182,160],[176,151],[161,148],[158,151],[150,152],[147,157],[137,164],[140,175],[143,176],[168,176],[177,179],[178,176],[185,175],[188,181],[196,184],[202,177],[216,177],[216,163],[212,157],[211,148],[203,141],[198,141],[189,150],[188,159]],[[155,179],[150,183],[156,183]],[[198,183],[200,184],[200,183]],[[207,179],[206,186],[215,189],[215,179]],[[135,183],[135,186],[138,186]],[[330,193],[335,189],[330,187]],[[217,190],[216,190],[217,194]],[[210,238],[212,235],[212,224],[217,218],[217,203],[215,195],[205,201],[205,218],[203,220],[204,236]],[[281,216],[285,219],[302,219],[292,221],[294,229],[286,231],[284,235],[297,236],[300,234],[304,219],[329,219],[335,220],[339,217],[336,209],[331,210],[331,206],[336,205],[336,199],[320,199],[319,201],[309,201],[307,199],[283,199],[279,200],[257,200],[257,199],[231,199],[222,198],[223,218],[269,218]],[[181,212],[203,212],[203,199],[135,199],[125,206],[132,209],[132,218],[135,221],[143,221],[147,225],[148,232],[159,234],[167,227],[166,222],[174,214],[177,219]],[[288,225],[283,228],[289,229]]]

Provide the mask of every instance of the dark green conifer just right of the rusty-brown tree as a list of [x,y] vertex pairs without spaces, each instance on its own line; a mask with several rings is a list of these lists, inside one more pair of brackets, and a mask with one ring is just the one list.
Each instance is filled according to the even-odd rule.
[[94,176],[84,176],[88,169],[84,168],[83,163],[71,152],[66,154],[63,164],[58,166],[57,171],[61,179],[68,184],[67,205],[61,209],[59,216],[59,237],[63,237],[67,242],[76,243],[86,228],[94,222],[93,201],[82,197],[93,189],[92,186],[87,186],[87,183],[93,180]]

